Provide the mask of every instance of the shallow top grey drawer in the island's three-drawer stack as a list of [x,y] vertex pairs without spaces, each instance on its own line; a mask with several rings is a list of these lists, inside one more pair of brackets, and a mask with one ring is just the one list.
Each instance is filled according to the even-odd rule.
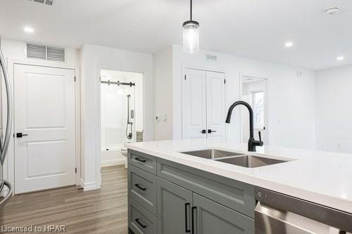
[[146,155],[143,152],[128,150],[128,163],[156,174],[156,157]]

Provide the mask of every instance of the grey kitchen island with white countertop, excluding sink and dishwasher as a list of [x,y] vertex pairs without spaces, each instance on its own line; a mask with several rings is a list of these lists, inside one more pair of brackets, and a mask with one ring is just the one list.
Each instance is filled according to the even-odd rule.
[[[255,186],[352,214],[352,155],[265,145],[250,155],[279,163],[241,167],[184,153],[216,149],[249,154],[246,145],[227,141],[153,141],[126,146],[130,151],[130,218],[137,223],[136,228],[147,226],[142,219],[133,219],[142,210],[151,221],[148,227],[152,228],[142,233],[175,230],[177,227],[170,221],[162,220],[164,216],[182,217],[179,219],[184,233],[193,233],[194,225],[197,233],[203,233],[201,228],[205,227],[223,228],[220,230],[225,233],[235,229],[238,233],[253,233]],[[170,200],[173,202],[165,202]],[[165,214],[168,212],[175,214]],[[194,212],[198,215],[194,216]]]

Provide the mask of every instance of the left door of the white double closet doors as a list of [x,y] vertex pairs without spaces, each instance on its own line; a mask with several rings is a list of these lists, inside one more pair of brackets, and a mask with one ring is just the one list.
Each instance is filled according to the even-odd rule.
[[206,72],[185,69],[183,138],[206,138]]

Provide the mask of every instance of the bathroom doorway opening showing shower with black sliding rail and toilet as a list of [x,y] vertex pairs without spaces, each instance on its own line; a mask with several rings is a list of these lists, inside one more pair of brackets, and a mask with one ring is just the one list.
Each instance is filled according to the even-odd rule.
[[143,141],[143,74],[101,70],[101,167],[127,166],[125,143]]

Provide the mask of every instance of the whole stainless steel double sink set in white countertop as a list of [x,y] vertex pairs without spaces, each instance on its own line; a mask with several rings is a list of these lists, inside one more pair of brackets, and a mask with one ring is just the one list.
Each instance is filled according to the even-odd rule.
[[228,164],[234,164],[240,167],[263,167],[272,164],[279,164],[283,162],[289,162],[289,160],[277,160],[269,157],[259,157],[255,155],[247,155],[239,152],[230,152],[225,150],[196,150],[182,152],[186,155],[192,155],[196,157],[203,157],[209,160],[215,160],[218,162],[225,162]]

